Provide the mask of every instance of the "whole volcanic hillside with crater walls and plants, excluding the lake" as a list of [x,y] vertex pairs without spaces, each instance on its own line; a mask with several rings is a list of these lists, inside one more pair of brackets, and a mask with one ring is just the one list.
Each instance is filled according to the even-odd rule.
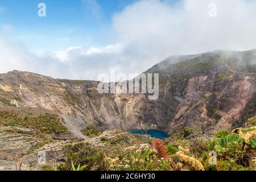
[[1,74],[0,170],[70,170],[73,161],[86,170],[254,170],[255,63],[256,50],[168,57],[146,71],[160,75],[157,100],[100,94],[97,81]]

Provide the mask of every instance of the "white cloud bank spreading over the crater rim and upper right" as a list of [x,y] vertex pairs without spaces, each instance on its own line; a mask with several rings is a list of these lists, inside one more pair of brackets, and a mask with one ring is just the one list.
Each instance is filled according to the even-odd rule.
[[[214,18],[209,16],[212,2],[217,5]],[[97,79],[110,68],[141,73],[170,55],[256,48],[255,22],[255,1],[139,1],[114,15],[113,29],[119,39],[103,48],[72,47],[35,55],[0,39],[4,47],[0,72],[22,69],[74,79]]]

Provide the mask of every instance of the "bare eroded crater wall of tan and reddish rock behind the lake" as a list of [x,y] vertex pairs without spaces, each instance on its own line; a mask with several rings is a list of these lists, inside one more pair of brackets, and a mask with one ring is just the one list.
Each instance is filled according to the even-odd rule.
[[[160,73],[157,100],[146,94],[100,94],[96,81],[56,80],[28,72],[0,75],[0,105],[43,107],[101,129],[184,127],[231,129],[255,94],[256,51],[171,57]],[[243,125],[243,122],[238,122]],[[78,134],[80,135],[80,134]]]

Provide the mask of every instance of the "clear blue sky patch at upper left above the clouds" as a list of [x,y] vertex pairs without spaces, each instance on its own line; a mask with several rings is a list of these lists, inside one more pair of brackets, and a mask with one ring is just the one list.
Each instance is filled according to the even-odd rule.
[[[113,14],[134,1],[0,0],[0,7],[4,9],[0,15],[0,24],[12,26],[13,34],[9,36],[15,35],[16,39],[23,40],[35,51],[104,46],[111,42],[110,37],[102,36],[111,31]],[[46,18],[37,15],[40,2],[46,4]]]

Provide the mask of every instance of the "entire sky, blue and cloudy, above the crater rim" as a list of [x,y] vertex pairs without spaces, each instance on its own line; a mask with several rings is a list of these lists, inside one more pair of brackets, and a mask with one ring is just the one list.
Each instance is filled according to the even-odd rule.
[[255,49],[255,22],[250,0],[0,0],[0,73],[139,74],[171,55]]

